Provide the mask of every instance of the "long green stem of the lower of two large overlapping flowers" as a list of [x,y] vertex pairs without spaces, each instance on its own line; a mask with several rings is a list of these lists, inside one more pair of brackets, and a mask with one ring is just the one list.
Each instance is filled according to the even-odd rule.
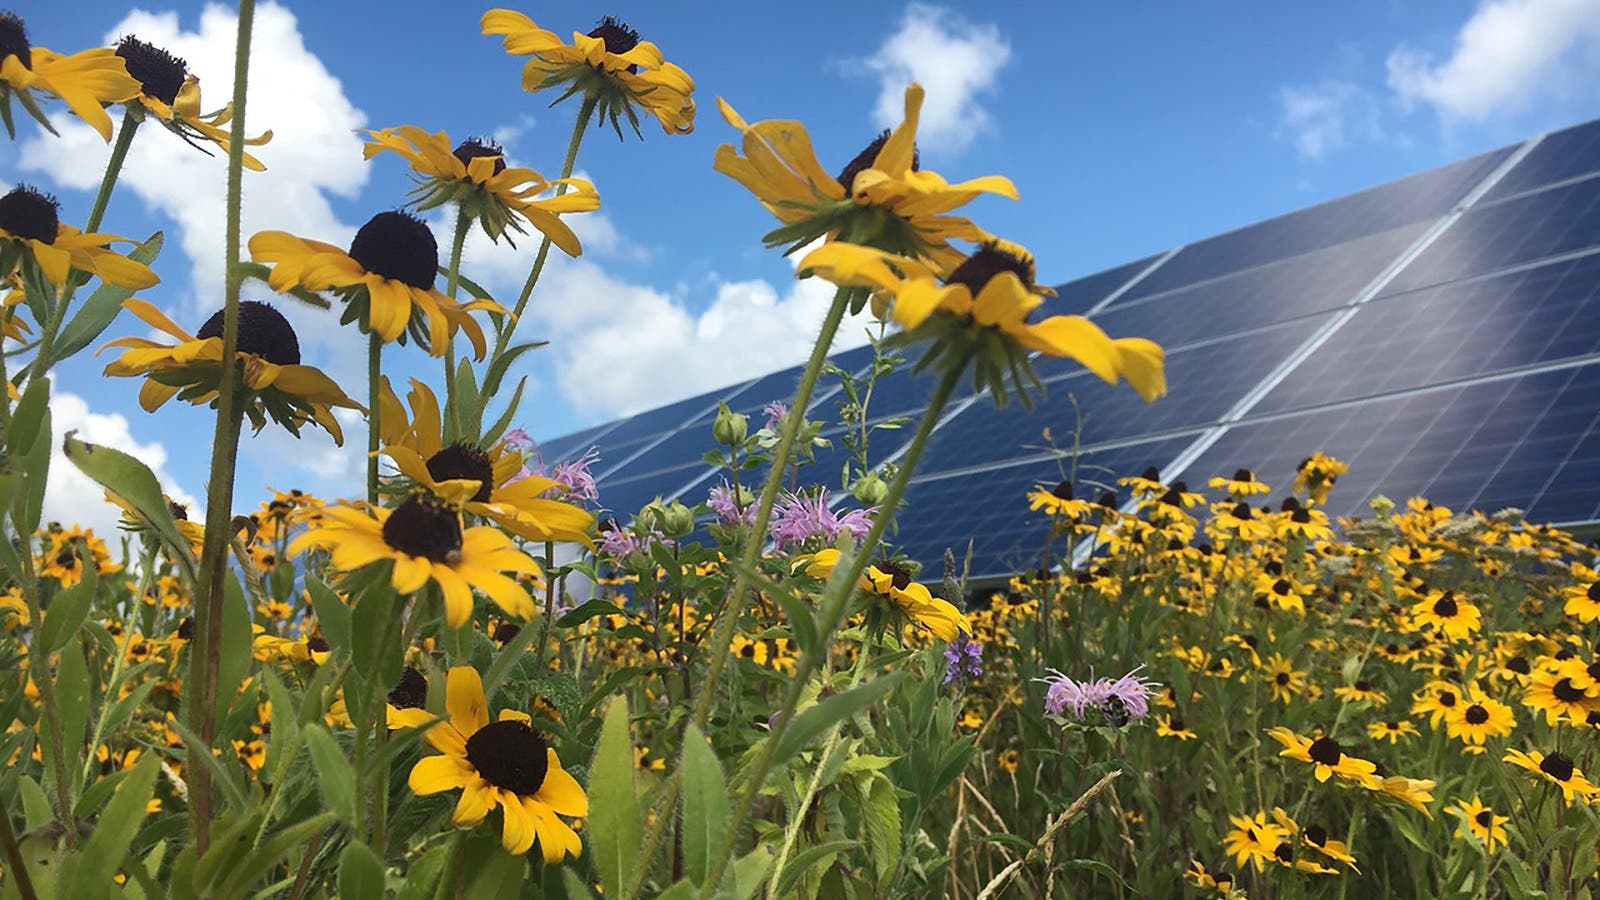
[[878,514],[872,519],[872,528],[867,532],[866,540],[861,541],[861,548],[856,549],[856,554],[850,557],[850,565],[843,578],[838,577],[837,570],[829,578],[829,586],[822,593],[822,604],[818,615],[818,633],[821,634],[821,641],[814,652],[802,653],[800,661],[795,665],[795,674],[789,681],[789,687],[784,692],[784,705],[779,708],[778,722],[773,724],[771,733],[768,733],[766,740],[762,741],[762,751],[750,765],[750,777],[746,781],[744,791],[739,794],[739,802],[733,809],[733,820],[728,823],[722,849],[717,850],[715,858],[712,858],[710,870],[706,873],[706,884],[699,894],[701,900],[710,900],[710,897],[717,894],[717,886],[722,884],[722,873],[728,868],[728,860],[733,858],[733,850],[739,844],[739,834],[744,823],[749,820],[750,810],[755,807],[755,798],[760,796],[762,785],[766,783],[766,772],[773,765],[773,753],[778,751],[778,745],[782,743],[784,733],[789,730],[789,722],[795,717],[795,709],[800,706],[800,695],[805,692],[805,685],[811,681],[811,674],[822,663],[822,660],[827,658],[829,639],[834,636],[834,629],[838,628],[840,620],[845,618],[850,597],[856,593],[856,581],[861,578],[861,573],[866,572],[867,562],[872,559],[872,551],[877,549],[878,541],[883,540],[883,533],[888,530],[890,522],[894,520],[899,501],[906,495],[906,487],[910,484],[912,472],[917,469],[917,460],[922,458],[922,450],[928,445],[928,436],[933,434],[933,426],[938,424],[939,415],[944,412],[944,405],[950,400],[950,394],[955,392],[955,384],[960,381],[965,370],[965,365],[955,365],[946,370],[939,378],[939,384],[933,389],[933,397],[928,400],[928,408],[923,410],[922,421],[917,424],[917,434],[910,439],[910,445],[906,448],[901,468],[894,472],[894,480],[890,482],[888,495],[883,498]]

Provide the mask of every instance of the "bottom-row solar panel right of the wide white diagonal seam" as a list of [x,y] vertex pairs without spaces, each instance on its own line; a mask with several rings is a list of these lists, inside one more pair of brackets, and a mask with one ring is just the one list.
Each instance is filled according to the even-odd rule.
[[[1422,495],[1453,509],[1517,506],[1531,520],[1587,520],[1600,364],[1402,394],[1230,428],[1184,472],[1190,482],[1251,468],[1278,495],[1314,452],[1350,464],[1328,498],[1336,516],[1373,496]],[[1587,415],[1586,415],[1587,413]],[[1587,485],[1576,466],[1587,468]],[[1544,484],[1539,480],[1544,474]]]

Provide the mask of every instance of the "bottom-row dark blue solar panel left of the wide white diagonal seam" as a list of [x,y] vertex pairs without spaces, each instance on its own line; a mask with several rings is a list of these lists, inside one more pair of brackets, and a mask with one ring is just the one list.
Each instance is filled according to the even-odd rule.
[[[1187,444],[1150,440],[1085,453],[1077,463],[1078,493],[1093,498],[1104,487],[1115,488],[1118,477],[1139,474],[1149,466],[1166,466]],[[939,572],[946,548],[955,552],[957,560],[963,559],[968,541],[973,541],[973,578],[1037,569],[1046,517],[1029,512],[1026,495],[1035,485],[1054,485],[1061,479],[1062,468],[1054,460],[920,477],[906,492],[896,541],[907,556],[928,565],[930,573]],[[1118,488],[1118,495],[1126,498],[1126,490]]]

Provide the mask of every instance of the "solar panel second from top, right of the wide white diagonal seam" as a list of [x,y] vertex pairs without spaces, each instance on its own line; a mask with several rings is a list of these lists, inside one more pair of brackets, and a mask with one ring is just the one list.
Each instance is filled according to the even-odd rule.
[[1467,210],[1384,290],[1454,282],[1600,243],[1600,178]]

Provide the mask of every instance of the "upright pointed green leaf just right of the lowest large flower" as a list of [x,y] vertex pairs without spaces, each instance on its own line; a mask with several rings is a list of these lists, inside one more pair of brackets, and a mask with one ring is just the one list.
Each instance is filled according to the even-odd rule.
[[608,895],[621,895],[634,871],[645,834],[645,814],[634,788],[634,740],[627,732],[627,698],[606,705],[600,746],[589,767],[589,836],[595,870]]

